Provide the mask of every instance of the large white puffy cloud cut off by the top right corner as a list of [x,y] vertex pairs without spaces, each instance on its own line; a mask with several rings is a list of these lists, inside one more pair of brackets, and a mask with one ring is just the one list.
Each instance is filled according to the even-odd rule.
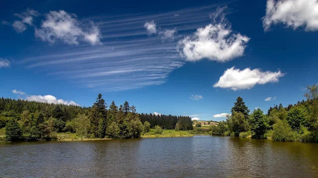
[[318,30],[317,0],[267,0],[263,27],[268,31],[271,25],[283,23],[294,30],[304,26],[306,31]]

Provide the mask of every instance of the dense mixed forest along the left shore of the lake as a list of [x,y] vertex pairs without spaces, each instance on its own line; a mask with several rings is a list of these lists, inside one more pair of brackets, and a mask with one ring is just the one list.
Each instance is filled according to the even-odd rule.
[[92,107],[0,98],[0,129],[6,141],[54,140],[57,133],[81,138],[138,138],[156,130],[192,130],[188,116],[138,114],[126,101],[109,107],[99,94]]

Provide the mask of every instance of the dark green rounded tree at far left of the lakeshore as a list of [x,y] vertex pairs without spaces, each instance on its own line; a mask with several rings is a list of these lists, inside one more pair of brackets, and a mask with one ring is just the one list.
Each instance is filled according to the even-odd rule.
[[21,139],[22,131],[15,119],[10,119],[5,126],[5,138],[8,141],[18,141]]

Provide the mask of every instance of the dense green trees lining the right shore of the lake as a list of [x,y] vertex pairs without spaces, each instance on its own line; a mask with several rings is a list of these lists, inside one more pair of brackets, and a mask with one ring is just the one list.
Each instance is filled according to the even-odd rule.
[[211,134],[318,142],[318,84],[308,86],[305,97],[306,101],[294,105],[270,107],[266,114],[259,108],[249,113],[243,99],[238,97],[232,114],[211,127]]

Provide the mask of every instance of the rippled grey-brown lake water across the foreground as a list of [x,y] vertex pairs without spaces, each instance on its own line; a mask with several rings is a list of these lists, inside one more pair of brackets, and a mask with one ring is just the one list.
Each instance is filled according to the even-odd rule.
[[0,143],[0,177],[318,177],[318,144],[223,136]]

